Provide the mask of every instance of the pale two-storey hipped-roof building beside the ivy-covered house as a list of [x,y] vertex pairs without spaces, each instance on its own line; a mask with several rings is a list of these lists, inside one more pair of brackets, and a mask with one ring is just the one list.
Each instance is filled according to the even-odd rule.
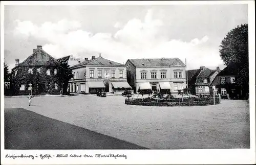
[[98,91],[120,93],[131,90],[126,79],[126,65],[105,59],[101,55],[85,60],[71,67],[74,78],[69,81],[70,92],[93,94]]

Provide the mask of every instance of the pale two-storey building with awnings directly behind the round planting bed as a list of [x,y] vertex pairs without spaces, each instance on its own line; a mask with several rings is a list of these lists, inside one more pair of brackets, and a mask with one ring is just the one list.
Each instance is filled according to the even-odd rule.
[[186,87],[186,65],[178,58],[128,59],[127,81],[138,89],[178,93]]

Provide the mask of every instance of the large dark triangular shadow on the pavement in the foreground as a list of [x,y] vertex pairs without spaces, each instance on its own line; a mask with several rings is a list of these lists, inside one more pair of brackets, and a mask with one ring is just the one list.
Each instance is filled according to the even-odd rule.
[[146,149],[23,108],[5,109],[5,149]]

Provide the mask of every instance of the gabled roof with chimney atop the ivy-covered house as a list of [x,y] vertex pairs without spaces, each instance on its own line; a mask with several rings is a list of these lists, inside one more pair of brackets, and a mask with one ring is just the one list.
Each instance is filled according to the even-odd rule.
[[[18,66],[54,66],[59,65],[58,61],[51,55],[42,50],[41,46],[37,46],[37,49],[26,60],[20,63]],[[15,68],[16,68],[15,67]]]

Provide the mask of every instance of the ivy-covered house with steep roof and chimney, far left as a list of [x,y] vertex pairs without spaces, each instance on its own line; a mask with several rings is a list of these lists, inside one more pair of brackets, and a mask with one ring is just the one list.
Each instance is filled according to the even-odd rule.
[[58,94],[60,86],[56,78],[59,63],[38,45],[22,63],[16,59],[12,69],[13,95],[32,93]]

